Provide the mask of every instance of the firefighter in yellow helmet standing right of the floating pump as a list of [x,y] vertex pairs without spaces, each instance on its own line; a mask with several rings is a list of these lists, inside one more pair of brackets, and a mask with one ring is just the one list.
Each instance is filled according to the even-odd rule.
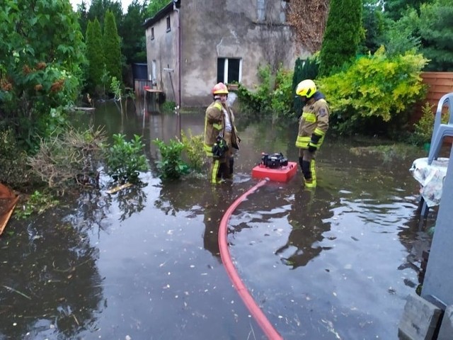
[[296,94],[302,97],[304,108],[299,118],[296,147],[306,188],[316,187],[315,156],[328,130],[329,107],[326,98],[317,91],[311,79],[301,81]]

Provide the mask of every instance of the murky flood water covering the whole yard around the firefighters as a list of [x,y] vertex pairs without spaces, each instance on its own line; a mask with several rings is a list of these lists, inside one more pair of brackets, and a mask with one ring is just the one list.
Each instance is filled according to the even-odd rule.
[[[140,109],[137,109],[140,111]],[[297,125],[236,123],[241,150],[233,183],[204,178],[162,183],[155,138],[202,133],[204,113],[128,114],[111,103],[81,122],[143,135],[151,171],[143,186],[86,190],[0,237],[0,339],[265,339],[222,265],[219,222],[258,183],[261,152],[297,162]],[[144,122],[144,125],[143,125]],[[326,137],[319,185],[300,169],[268,182],[229,221],[229,251],[254,299],[284,339],[398,339],[405,298],[419,285],[425,233],[413,159],[356,155],[377,140]],[[21,208],[21,207],[18,207]]]

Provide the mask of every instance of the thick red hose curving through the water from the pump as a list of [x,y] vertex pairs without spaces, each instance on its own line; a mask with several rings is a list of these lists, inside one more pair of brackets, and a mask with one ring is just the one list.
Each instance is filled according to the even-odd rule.
[[258,182],[256,186],[253,186],[253,188],[249,189],[248,191],[246,191],[246,193],[243,193],[239,198],[237,198],[234,203],[231,204],[226,210],[219,226],[219,250],[222,262],[224,263],[226,269],[226,273],[228,273],[228,276],[233,283],[234,288],[236,288],[243,302],[246,304],[248,310],[256,319],[256,322],[258,322],[261,329],[263,329],[265,335],[268,336],[268,338],[271,340],[277,340],[283,338],[282,336],[280,336],[280,334],[277,333],[273,325],[270,324],[268,318],[265,316],[263,311],[260,310],[260,307],[256,304],[255,300],[253,300],[252,295],[248,292],[246,285],[243,284],[238,272],[236,271],[236,268],[234,268],[233,261],[231,261],[228,243],[226,240],[228,233],[228,222],[231,214],[249,194],[256,191],[256,189],[260,188],[260,186],[263,186],[265,183],[265,180]]

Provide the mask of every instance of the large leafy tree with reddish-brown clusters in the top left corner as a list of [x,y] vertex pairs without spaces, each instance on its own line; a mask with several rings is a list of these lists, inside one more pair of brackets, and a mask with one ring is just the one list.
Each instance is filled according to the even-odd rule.
[[79,23],[67,0],[2,0],[0,21],[0,128],[10,126],[35,147],[55,119],[52,109],[79,94]]

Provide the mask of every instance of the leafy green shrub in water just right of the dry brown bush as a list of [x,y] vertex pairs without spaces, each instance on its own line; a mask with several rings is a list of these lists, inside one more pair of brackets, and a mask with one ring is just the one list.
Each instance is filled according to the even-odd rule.
[[105,147],[107,174],[120,183],[139,182],[139,171],[149,169],[147,157],[143,153],[142,137],[134,135],[127,142],[125,135],[113,135],[113,145]]

